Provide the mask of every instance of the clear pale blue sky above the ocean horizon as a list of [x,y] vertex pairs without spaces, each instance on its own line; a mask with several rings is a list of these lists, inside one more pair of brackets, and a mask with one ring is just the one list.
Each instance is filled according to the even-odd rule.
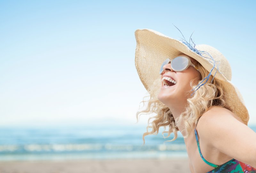
[[[136,123],[136,29],[218,49],[256,125],[255,1],[0,1],[0,126]],[[174,24],[174,25],[173,25]],[[139,124],[146,124],[141,115]]]

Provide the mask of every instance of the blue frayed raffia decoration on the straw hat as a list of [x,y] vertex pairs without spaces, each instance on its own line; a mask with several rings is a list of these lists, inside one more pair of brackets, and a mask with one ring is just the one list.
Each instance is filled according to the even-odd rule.
[[[174,25],[174,24],[173,24],[173,25]],[[174,25],[174,26],[175,26],[175,25]],[[175,26],[175,27],[176,27],[176,26]],[[176,28],[177,28],[177,27],[176,27]],[[179,30],[179,28],[177,28],[177,29]],[[180,30],[179,30],[179,31],[180,31]],[[180,33],[181,33],[181,31],[180,31]],[[194,33],[194,31],[192,32],[192,34],[193,34],[193,33]],[[191,34],[191,36],[192,36],[192,34]],[[181,33],[181,35],[183,36],[182,33]],[[189,48],[190,50],[192,50],[193,52],[195,52],[196,54],[199,54],[200,56],[202,56],[202,57],[204,57],[204,58],[207,58],[207,59],[211,59],[211,60],[213,61],[213,67],[212,67],[212,69],[210,70],[209,75],[206,76],[194,89],[191,90],[191,91],[193,91],[193,90],[195,90],[204,80],[206,80],[206,81],[205,81],[203,84],[201,84],[196,90],[198,90],[201,86],[203,86],[203,85],[208,81],[209,77],[212,75],[212,70],[214,69],[216,62],[219,62],[218,66],[217,66],[217,70],[216,70],[214,76],[216,75],[217,71],[219,71],[220,61],[215,61],[215,60],[212,58],[211,54],[209,54],[209,53],[206,52],[206,51],[197,50],[197,49],[195,48],[196,44],[195,44],[194,41],[191,39],[191,36],[190,36],[190,38],[189,38],[189,42],[185,39],[184,36],[183,36],[184,39],[181,38],[180,41],[181,41],[182,43],[184,43],[186,46],[188,46],[188,48]],[[190,39],[191,39],[192,43],[190,43]],[[211,58],[208,58],[208,57],[203,56],[204,54],[207,54],[207,55],[210,56]],[[210,60],[209,60],[209,61],[210,61]],[[220,71],[219,71],[219,72],[220,72]],[[221,72],[220,72],[220,73],[221,73]],[[214,76],[213,76],[213,78],[214,78]],[[213,80],[213,78],[212,78],[212,80]],[[211,83],[212,83],[212,81],[211,81]],[[195,90],[190,96],[192,96],[192,95],[196,92],[196,90]]]

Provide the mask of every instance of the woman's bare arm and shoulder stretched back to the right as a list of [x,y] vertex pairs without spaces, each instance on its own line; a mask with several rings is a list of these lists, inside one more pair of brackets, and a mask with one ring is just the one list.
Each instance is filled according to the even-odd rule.
[[197,125],[200,137],[220,152],[256,168],[256,133],[234,116],[222,107],[205,112]]

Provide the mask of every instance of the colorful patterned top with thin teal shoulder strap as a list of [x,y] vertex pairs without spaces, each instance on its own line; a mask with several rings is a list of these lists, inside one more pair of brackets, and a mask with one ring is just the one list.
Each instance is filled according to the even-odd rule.
[[231,159],[230,161],[223,163],[222,165],[215,165],[213,163],[208,162],[207,160],[204,159],[201,153],[196,128],[195,128],[195,134],[196,134],[196,142],[197,142],[197,147],[198,147],[200,156],[202,157],[205,163],[215,167],[215,169],[207,173],[256,173],[255,168],[243,162],[240,162],[236,159]]

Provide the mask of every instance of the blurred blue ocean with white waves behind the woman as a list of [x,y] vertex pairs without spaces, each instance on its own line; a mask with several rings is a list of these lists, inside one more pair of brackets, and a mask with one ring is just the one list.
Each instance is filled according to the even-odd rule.
[[0,127],[0,161],[187,158],[181,133],[164,143],[174,135],[164,139],[163,131],[147,135],[143,145],[146,126]]

